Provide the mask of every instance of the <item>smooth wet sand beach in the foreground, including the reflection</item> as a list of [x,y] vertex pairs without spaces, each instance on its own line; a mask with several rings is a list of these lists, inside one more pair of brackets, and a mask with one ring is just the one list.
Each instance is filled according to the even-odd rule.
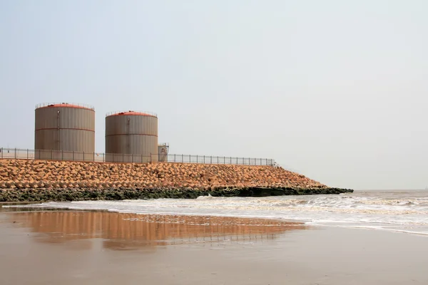
[[298,222],[0,212],[0,284],[428,284],[428,238]]

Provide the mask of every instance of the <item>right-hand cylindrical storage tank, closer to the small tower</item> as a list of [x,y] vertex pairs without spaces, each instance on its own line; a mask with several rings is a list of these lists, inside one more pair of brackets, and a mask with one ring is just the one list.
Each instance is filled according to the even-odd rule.
[[158,116],[141,111],[108,113],[106,161],[158,161]]

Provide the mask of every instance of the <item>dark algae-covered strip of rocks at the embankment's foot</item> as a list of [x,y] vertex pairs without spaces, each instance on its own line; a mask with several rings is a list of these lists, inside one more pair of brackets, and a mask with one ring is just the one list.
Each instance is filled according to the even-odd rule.
[[217,190],[194,190],[190,188],[170,189],[130,189],[130,188],[58,188],[58,189],[7,189],[0,191],[0,202],[48,202],[83,200],[123,200],[123,199],[195,199],[199,196],[213,197],[267,197],[283,195],[328,195],[351,193],[354,190],[340,188],[225,188]]

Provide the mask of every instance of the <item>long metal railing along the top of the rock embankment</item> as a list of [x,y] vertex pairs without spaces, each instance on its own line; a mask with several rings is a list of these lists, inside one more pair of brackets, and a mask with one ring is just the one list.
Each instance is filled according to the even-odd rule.
[[131,155],[103,152],[76,152],[67,150],[30,150],[4,147],[0,148],[0,159],[66,160],[118,163],[176,162],[209,165],[276,165],[275,160],[269,158],[227,157],[212,155],[172,155],[162,153],[152,155]]

